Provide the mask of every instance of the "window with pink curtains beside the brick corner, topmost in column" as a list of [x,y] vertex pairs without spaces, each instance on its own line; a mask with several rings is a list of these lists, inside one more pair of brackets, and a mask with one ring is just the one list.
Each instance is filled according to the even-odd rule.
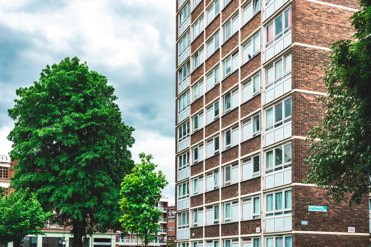
[[[273,2],[269,0],[266,5]],[[267,40],[265,47],[269,47],[277,43],[282,37],[291,30],[291,7],[284,11],[280,16],[274,19],[266,27]]]

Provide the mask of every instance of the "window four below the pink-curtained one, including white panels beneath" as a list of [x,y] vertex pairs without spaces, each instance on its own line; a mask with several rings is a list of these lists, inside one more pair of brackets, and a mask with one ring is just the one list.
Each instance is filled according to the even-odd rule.
[[266,232],[291,230],[291,189],[265,195]]

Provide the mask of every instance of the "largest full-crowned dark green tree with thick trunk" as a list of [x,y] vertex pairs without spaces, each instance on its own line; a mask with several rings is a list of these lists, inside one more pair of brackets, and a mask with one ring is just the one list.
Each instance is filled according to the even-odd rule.
[[76,247],[86,234],[121,227],[120,184],[134,166],[134,128],[122,121],[114,88],[79,61],[47,65],[8,110],[18,160],[11,183],[29,187],[58,224],[72,224]]

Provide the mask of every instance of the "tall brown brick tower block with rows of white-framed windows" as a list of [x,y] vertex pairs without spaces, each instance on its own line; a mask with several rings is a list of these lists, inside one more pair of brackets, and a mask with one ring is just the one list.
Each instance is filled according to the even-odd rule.
[[175,1],[177,247],[370,246],[368,195],[303,184],[321,67],[358,2]]

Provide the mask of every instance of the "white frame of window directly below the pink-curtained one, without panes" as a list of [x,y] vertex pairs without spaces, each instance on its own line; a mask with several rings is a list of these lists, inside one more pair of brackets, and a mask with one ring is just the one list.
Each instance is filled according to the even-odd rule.
[[[287,60],[286,60],[287,58]],[[274,62],[269,64],[265,68],[265,73],[266,73],[266,78],[265,78],[265,90],[267,91],[268,89],[275,88],[284,81],[288,80],[291,77],[291,71],[292,71],[292,57],[291,57],[291,52],[283,55],[279,59],[276,59]],[[276,65],[278,63],[282,63],[282,71],[277,72],[279,70],[276,70]],[[289,63],[289,69],[286,70],[286,64]],[[268,71],[272,71],[271,78],[268,76],[270,73]],[[276,73],[280,73],[280,75],[276,75]]]

